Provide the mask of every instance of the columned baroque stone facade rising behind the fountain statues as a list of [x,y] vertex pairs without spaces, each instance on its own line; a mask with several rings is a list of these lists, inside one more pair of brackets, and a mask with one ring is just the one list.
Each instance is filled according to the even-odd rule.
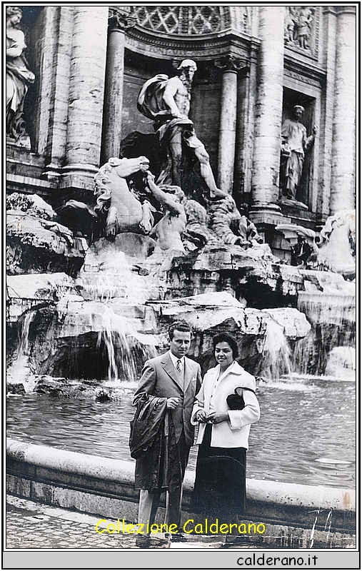
[[[7,141],[7,190],[54,207],[92,206],[94,174],[134,131],[146,79],[196,61],[191,118],[218,185],[271,244],[280,223],[318,229],[353,208],[356,6],[23,6],[19,29],[34,72],[24,101],[31,148]],[[281,126],[293,106],[313,147],[298,204],[280,200]],[[144,153],[142,153],[144,154]]]

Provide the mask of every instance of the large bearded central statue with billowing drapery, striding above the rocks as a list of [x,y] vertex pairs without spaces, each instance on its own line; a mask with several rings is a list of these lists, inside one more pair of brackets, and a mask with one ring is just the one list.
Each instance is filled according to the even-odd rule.
[[[185,59],[177,69],[178,76],[169,79],[169,76],[159,74],[149,79],[140,91],[137,107],[144,116],[155,121],[154,128],[166,158],[157,183],[181,186],[186,191],[186,178],[192,177],[192,162],[196,158],[201,178],[206,184],[205,190],[211,196],[216,196],[218,188],[208,153],[196,136],[193,122],[188,118],[191,85],[196,69],[193,60]],[[191,185],[191,192],[193,188]]]

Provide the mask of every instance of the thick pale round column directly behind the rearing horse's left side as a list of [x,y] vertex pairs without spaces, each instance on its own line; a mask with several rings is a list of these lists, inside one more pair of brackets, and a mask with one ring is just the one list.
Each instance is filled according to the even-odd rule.
[[75,6],[63,188],[93,189],[99,168],[107,26],[108,6]]

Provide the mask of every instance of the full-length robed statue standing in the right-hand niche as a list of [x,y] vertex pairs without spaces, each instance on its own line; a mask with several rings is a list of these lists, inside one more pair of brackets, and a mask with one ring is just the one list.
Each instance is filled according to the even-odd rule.
[[280,186],[284,203],[307,209],[306,204],[296,200],[296,194],[300,188],[304,155],[313,146],[318,129],[314,126],[313,134],[307,137],[306,127],[300,121],[303,112],[304,107],[295,105],[293,118],[283,121],[281,127]]

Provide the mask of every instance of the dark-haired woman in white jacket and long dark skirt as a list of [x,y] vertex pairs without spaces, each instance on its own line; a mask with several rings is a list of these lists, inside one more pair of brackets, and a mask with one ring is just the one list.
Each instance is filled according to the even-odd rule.
[[[228,522],[245,511],[248,435],[260,409],[255,378],[236,363],[236,340],[227,333],[215,335],[213,350],[218,365],[204,376],[191,415],[191,423],[199,424],[193,498],[197,511]],[[231,410],[226,399],[238,387],[245,406]]]

